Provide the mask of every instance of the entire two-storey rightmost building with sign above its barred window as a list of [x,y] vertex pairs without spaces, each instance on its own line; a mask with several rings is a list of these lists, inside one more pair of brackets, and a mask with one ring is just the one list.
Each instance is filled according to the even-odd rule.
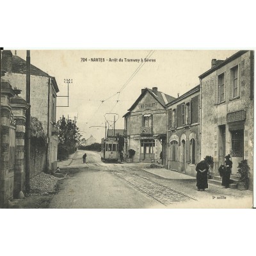
[[212,60],[211,69],[200,75],[200,158],[214,158],[214,172],[232,157],[232,174],[247,159],[253,178],[254,52],[239,51],[227,60]]

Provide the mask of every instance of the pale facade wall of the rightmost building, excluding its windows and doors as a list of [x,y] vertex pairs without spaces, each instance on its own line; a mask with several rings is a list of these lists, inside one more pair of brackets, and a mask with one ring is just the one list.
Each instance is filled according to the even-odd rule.
[[[218,140],[219,125],[226,125],[226,152],[230,154],[230,132],[228,131],[227,113],[232,113],[244,109],[246,120],[244,122],[244,159],[248,160],[251,169],[251,185],[253,180],[253,100],[250,100],[250,51],[236,60],[230,61],[224,67],[212,72],[201,81],[202,93],[202,157],[211,155],[214,157],[214,172],[218,172]],[[239,99],[230,100],[230,69],[239,65]],[[216,104],[218,75],[225,72],[225,102]],[[214,95],[214,97],[212,97]],[[234,168],[234,166],[233,166]]]

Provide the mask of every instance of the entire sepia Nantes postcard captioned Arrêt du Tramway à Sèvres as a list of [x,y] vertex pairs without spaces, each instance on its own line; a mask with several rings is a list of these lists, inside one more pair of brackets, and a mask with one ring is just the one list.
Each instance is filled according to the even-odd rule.
[[1,50],[1,208],[253,207],[254,51]]

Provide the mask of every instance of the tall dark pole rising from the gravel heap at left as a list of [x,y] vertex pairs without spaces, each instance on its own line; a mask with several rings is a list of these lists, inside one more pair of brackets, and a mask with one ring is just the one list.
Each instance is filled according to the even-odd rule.
[[26,173],[25,173],[25,188],[26,193],[30,191],[30,51],[27,51],[26,58],[26,102],[29,105],[28,110],[26,111],[26,133],[25,133],[25,152],[26,152]]

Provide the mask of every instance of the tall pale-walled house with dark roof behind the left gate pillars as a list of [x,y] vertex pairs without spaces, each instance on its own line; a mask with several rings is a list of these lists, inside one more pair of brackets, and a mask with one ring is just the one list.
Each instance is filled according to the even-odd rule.
[[[5,75],[4,81],[12,84],[12,88],[22,90],[20,97],[26,99],[26,61],[19,56],[13,56],[12,51],[3,51],[1,69]],[[31,65],[30,68],[30,104],[31,116],[42,122],[47,136],[45,154],[37,156],[36,171],[48,170],[54,172],[57,168],[58,129],[56,127],[56,93],[59,92],[54,77]],[[36,173],[35,173],[36,174]]]

